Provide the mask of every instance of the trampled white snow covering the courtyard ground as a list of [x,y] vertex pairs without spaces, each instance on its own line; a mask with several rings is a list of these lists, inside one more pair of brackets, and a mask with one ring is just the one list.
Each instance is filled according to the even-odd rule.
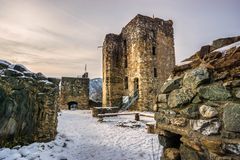
[[[154,160],[162,148],[145,123],[153,119],[134,115],[107,117],[102,122],[90,111],[59,114],[58,135],[48,143],[0,148],[0,160]],[[124,126],[122,126],[124,124]]]

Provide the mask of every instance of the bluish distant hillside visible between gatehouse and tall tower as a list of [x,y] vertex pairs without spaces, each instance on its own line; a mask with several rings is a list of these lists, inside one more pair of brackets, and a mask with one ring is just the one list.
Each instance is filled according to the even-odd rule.
[[89,97],[94,101],[102,101],[102,78],[90,80]]

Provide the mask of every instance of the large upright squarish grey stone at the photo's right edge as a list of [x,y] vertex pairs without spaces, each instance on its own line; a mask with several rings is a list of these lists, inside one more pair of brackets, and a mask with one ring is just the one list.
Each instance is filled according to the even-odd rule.
[[229,102],[224,106],[223,124],[227,131],[240,132],[240,104]]

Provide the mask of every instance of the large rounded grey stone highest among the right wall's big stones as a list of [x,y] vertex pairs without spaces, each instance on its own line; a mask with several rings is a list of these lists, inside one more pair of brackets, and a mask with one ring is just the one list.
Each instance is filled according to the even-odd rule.
[[195,68],[185,73],[183,86],[196,89],[200,84],[209,80],[209,73],[206,68]]

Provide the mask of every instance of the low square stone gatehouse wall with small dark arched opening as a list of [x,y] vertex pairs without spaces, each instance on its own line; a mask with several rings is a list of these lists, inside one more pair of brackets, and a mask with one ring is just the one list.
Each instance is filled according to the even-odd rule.
[[89,109],[89,78],[62,77],[61,109],[69,109],[69,102],[76,102],[77,109]]

